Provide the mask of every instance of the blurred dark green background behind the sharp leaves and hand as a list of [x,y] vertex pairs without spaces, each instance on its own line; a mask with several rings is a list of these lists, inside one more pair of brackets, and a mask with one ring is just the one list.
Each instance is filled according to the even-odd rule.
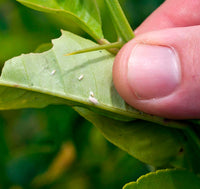
[[[98,0],[106,12],[103,0]],[[136,28],[163,0],[121,0]],[[105,36],[115,39],[103,19]],[[88,37],[74,24],[0,0],[0,66],[60,36],[60,29]],[[66,106],[0,111],[0,189],[121,189],[150,167],[107,142]]]

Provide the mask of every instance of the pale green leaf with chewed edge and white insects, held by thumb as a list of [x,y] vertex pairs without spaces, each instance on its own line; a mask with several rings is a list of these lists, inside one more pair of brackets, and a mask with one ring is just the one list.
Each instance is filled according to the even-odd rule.
[[[67,104],[124,121],[138,118],[166,126],[184,126],[128,106],[112,82],[114,56],[106,50],[64,56],[97,44],[69,32],[62,33],[53,40],[51,50],[21,55],[5,63],[0,78],[1,110]],[[78,80],[80,76],[84,78]],[[91,102],[91,91],[98,104]]]

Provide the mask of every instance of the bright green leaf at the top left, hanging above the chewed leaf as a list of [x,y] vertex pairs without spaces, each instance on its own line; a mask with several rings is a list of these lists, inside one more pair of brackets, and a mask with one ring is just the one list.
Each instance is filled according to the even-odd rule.
[[32,9],[54,13],[67,22],[73,21],[95,40],[103,38],[101,17],[95,0],[17,0]]

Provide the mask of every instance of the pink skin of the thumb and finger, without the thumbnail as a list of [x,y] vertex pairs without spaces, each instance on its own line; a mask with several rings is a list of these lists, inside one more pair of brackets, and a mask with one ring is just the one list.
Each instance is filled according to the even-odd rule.
[[[200,0],[166,0],[136,30],[136,37],[117,54],[113,66],[115,87],[124,100],[143,112],[172,119],[200,118]],[[127,64],[138,44],[169,47],[178,56],[181,82],[165,97],[141,99],[130,87]],[[147,52],[144,52],[145,57]],[[139,69],[139,68],[138,68]],[[148,78],[136,79],[144,96]],[[163,84],[165,87],[167,83]],[[140,87],[140,85],[139,85]]]

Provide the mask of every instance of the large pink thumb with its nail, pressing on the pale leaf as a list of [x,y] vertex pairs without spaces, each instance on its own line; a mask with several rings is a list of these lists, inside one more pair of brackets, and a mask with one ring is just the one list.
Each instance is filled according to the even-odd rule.
[[131,106],[173,119],[200,118],[200,26],[144,33],[113,66],[115,87]]

